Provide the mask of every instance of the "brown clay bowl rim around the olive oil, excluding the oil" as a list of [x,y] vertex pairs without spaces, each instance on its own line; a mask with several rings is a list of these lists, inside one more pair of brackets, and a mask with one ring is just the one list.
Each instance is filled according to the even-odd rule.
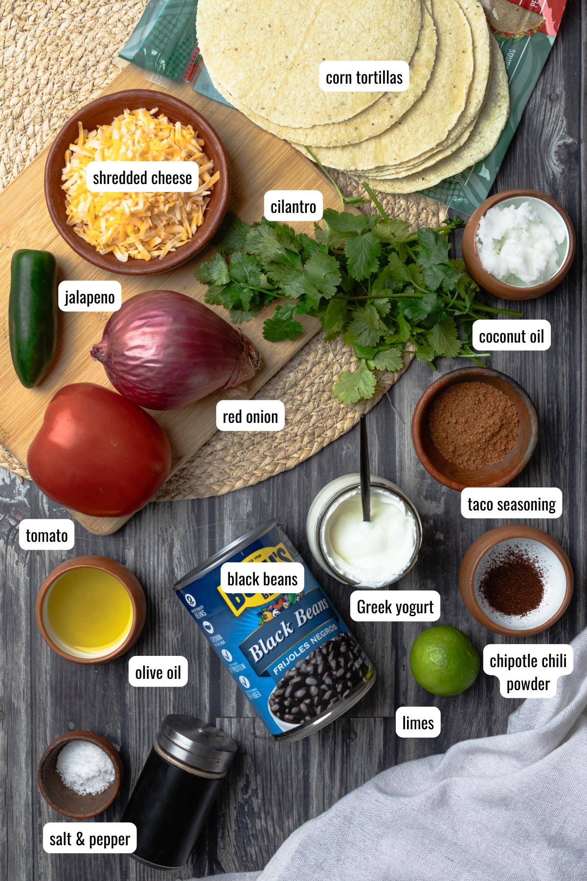
[[[55,584],[55,581],[61,578],[66,572],[70,572],[72,569],[81,568],[100,569],[102,572],[114,575],[114,578],[121,582],[122,587],[126,589],[128,596],[130,597],[130,603],[132,604],[133,609],[133,623],[124,642],[122,642],[118,648],[114,648],[108,655],[99,655],[99,657],[81,657],[79,655],[74,655],[62,648],[61,645],[58,645],[48,633],[48,628],[45,622],[44,607],[49,589],[51,589]],[[124,655],[125,652],[128,652],[128,649],[131,648],[131,646],[135,645],[136,640],[138,640],[141,635],[145,618],[147,616],[147,602],[145,600],[143,588],[137,581],[136,576],[132,574],[126,566],[122,566],[121,563],[117,563],[116,560],[108,559],[107,557],[74,557],[73,559],[66,559],[60,566],[57,566],[53,572],[49,573],[45,581],[43,581],[40,586],[40,591],[37,594],[35,615],[40,635],[45,642],[47,642],[48,647],[52,648],[57,655],[61,655],[66,661],[73,661],[73,663],[106,663],[106,661],[113,661],[114,658]]]

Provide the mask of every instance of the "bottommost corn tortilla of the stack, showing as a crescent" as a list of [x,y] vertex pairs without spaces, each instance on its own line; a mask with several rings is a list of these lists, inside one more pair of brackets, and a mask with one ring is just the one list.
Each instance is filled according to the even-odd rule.
[[451,156],[417,174],[408,174],[407,177],[397,178],[393,181],[380,181],[367,177],[367,181],[375,189],[384,193],[415,193],[417,190],[433,187],[453,174],[460,174],[466,168],[472,167],[488,156],[497,144],[510,115],[508,74],[505,70],[501,49],[493,36],[491,37],[491,55],[493,74],[489,85],[488,100],[485,102],[466,144],[463,144]]

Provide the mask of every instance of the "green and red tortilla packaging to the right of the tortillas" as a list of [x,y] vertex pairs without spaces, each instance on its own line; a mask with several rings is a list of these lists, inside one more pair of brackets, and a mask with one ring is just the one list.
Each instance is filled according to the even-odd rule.
[[510,115],[493,150],[472,167],[429,189],[430,196],[462,214],[487,198],[561,25],[566,0],[481,0],[502,51],[510,88]]

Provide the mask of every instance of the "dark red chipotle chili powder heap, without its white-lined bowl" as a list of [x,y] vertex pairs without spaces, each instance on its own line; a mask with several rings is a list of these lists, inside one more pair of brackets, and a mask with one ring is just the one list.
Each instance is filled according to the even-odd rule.
[[493,610],[524,616],[542,602],[544,570],[532,553],[509,547],[491,561],[479,590]]

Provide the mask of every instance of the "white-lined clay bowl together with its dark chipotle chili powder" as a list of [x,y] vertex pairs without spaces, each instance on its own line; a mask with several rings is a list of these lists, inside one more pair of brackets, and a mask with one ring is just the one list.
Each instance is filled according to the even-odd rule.
[[467,610],[488,630],[506,636],[547,630],[569,606],[573,583],[561,545],[542,529],[519,523],[477,538],[459,571]]

